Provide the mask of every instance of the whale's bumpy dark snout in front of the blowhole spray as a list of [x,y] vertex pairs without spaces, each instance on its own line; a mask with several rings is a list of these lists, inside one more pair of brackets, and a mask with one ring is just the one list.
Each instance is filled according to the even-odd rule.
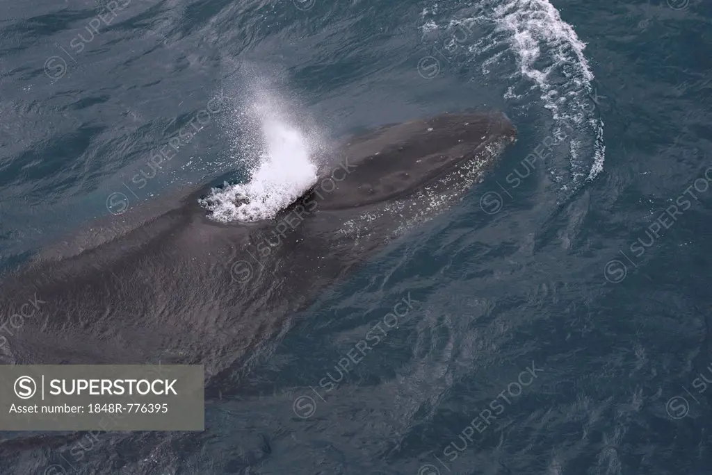
[[501,113],[441,114],[381,127],[345,144],[304,200],[322,211],[441,207],[481,181],[515,137]]

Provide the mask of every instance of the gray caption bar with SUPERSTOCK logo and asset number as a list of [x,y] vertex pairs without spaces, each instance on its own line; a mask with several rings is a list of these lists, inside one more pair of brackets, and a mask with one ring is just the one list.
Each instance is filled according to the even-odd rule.
[[204,430],[203,365],[0,365],[0,430]]

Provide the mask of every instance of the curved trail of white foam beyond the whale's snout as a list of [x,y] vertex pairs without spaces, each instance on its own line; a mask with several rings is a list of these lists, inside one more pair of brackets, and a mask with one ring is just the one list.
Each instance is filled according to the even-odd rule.
[[[562,191],[572,191],[585,179],[593,179],[603,169],[605,146],[603,122],[597,117],[592,80],[594,75],[584,55],[585,43],[574,28],[562,20],[548,0],[504,0],[481,2],[472,16],[448,18],[439,29],[455,38],[454,26],[477,21],[481,36],[467,38],[473,63],[488,74],[500,63],[503,53],[511,53],[518,70],[511,75],[505,98],[530,107],[539,103],[552,114],[553,129],[567,127],[577,133],[562,154],[569,155],[567,171],[553,165],[553,174]],[[469,23],[470,25],[472,23]],[[438,24],[428,18],[424,31],[436,31]],[[467,28],[469,30],[469,28]],[[459,33],[459,37],[462,34]],[[506,78],[506,75],[499,75]],[[537,93],[538,101],[527,99]],[[564,188],[566,187],[566,188]]]

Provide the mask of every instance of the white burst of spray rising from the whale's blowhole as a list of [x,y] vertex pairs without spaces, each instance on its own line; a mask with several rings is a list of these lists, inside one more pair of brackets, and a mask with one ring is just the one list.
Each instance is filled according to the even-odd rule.
[[261,154],[251,157],[246,183],[213,188],[201,204],[211,218],[221,222],[273,218],[317,181],[312,147],[303,131],[290,124],[271,97],[253,105],[251,114],[260,124]]

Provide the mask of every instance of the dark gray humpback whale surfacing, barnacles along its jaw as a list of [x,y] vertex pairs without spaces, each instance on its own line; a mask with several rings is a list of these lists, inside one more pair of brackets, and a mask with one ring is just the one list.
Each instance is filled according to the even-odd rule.
[[379,127],[323,152],[318,182],[268,220],[219,222],[192,190],[135,229],[6,274],[0,362],[202,363],[206,398],[224,394],[296,312],[459,201],[514,140],[496,112]]

